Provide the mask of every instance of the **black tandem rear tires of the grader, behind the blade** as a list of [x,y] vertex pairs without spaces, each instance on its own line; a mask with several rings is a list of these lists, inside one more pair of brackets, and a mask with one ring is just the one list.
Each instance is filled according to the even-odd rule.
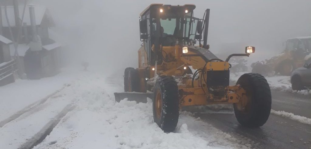
[[124,92],[139,92],[138,70],[128,67],[124,71]]

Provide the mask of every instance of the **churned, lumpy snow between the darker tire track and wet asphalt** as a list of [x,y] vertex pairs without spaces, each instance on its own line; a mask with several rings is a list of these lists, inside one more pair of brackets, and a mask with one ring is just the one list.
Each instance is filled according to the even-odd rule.
[[[44,148],[248,148],[230,134],[182,112],[174,133],[164,133],[153,122],[152,103],[122,100],[122,78],[82,78],[77,108],[69,112],[35,149]],[[69,94],[69,93],[68,93]]]

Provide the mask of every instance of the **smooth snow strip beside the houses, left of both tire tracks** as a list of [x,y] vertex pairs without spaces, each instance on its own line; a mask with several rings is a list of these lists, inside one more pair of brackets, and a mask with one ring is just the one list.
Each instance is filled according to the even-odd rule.
[[39,80],[16,80],[0,87],[0,122],[16,112],[55,93],[77,78],[76,72],[63,70],[60,74]]

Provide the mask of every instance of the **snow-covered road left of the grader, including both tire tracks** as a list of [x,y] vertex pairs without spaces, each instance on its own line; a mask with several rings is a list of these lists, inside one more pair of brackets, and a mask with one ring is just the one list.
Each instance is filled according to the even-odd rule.
[[[62,88],[62,87],[61,87]],[[3,148],[248,148],[182,112],[174,133],[154,122],[151,101],[114,102],[123,78],[84,72],[43,103],[0,128]]]

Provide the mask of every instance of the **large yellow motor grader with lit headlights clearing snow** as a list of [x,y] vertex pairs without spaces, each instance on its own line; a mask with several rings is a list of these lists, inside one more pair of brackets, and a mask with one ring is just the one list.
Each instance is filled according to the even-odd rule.
[[[236,85],[229,85],[229,59],[249,56],[255,47],[248,46],[244,54],[231,54],[225,61],[218,59],[207,44],[210,9],[204,19],[198,19],[193,17],[195,7],[151,4],[142,11],[139,67],[125,69],[125,92],[114,93],[116,102],[124,98],[146,102],[151,98],[154,122],[165,132],[175,130],[184,106],[224,103],[234,105],[241,125],[262,126],[271,110],[267,80],[248,73]],[[199,46],[195,46],[196,41]],[[189,66],[196,70],[193,74]]]

